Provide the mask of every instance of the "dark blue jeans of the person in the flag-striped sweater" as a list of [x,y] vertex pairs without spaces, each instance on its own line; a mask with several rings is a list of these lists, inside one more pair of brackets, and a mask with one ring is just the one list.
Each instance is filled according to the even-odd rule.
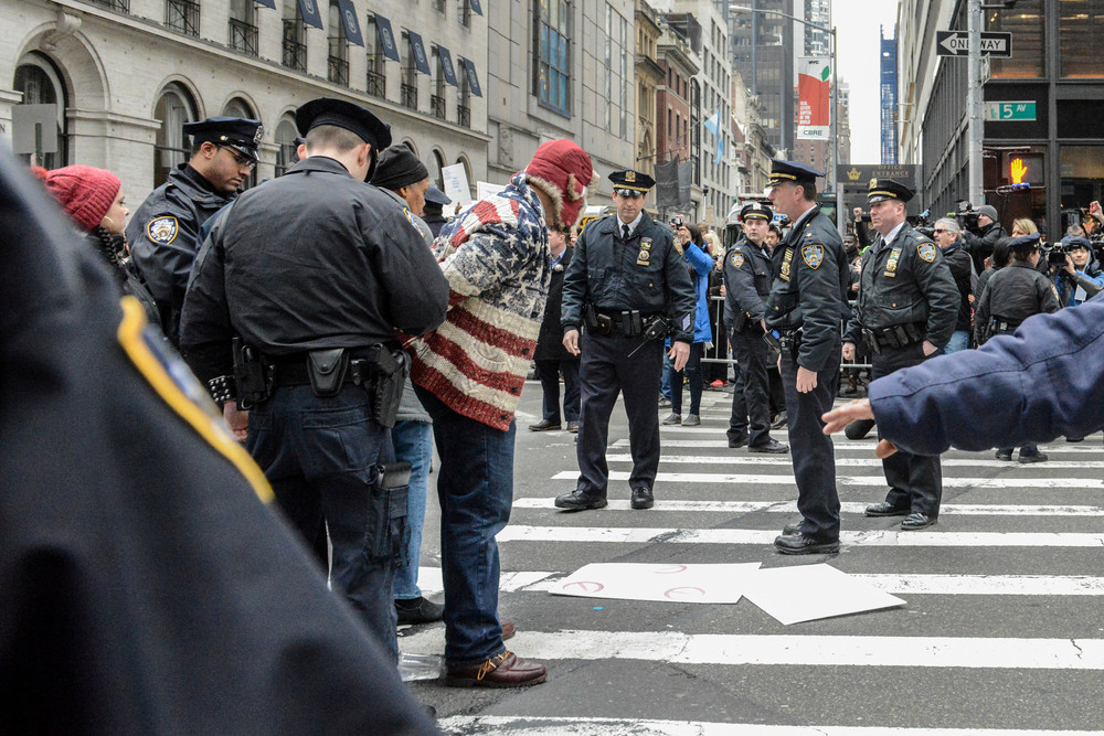
[[440,456],[440,573],[445,583],[445,662],[468,666],[506,651],[498,620],[495,535],[513,505],[513,436],[458,414],[414,386],[433,417]]

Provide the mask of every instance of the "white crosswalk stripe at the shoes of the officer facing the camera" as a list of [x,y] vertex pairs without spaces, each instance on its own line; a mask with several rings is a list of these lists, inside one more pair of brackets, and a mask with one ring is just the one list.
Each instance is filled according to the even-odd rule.
[[[555,509],[552,497],[528,497],[513,500],[514,509]],[[841,503],[843,513],[861,514],[869,503]],[[611,511],[630,511],[627,499],[611,499]],[[1104,506],[1015,505],[987,503],[944,503],[943,514],[970,516],[1104,516]],[[693,511],[722,513],[797,513],[796,501],[656,501],[656,511]]]

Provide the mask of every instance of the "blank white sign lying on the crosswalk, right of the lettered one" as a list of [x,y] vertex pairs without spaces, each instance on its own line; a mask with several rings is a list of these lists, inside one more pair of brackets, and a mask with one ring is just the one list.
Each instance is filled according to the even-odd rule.
[[905,602],[830,565],[760,569],[741,584],[750,601],[786,626]]

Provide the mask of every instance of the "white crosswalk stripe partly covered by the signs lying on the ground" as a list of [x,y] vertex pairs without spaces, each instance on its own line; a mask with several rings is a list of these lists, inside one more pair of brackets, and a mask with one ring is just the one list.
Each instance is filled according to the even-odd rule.
[[[571,573],[502,573],[503,593],[551,593]],[[858,580],[893,595],[937,596],[1104,596],[1104,577],[1084,575],[903,575],[849,573]],[[423,593],[439,593],[439,567],[418,567]]]

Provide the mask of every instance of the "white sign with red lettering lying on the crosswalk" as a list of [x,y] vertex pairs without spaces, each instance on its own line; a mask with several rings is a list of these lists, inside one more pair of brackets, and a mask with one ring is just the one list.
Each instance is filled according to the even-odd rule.
[[551,591],[583,598],[734,604],[760,563],[647,565],[596,563],[555,583]]

